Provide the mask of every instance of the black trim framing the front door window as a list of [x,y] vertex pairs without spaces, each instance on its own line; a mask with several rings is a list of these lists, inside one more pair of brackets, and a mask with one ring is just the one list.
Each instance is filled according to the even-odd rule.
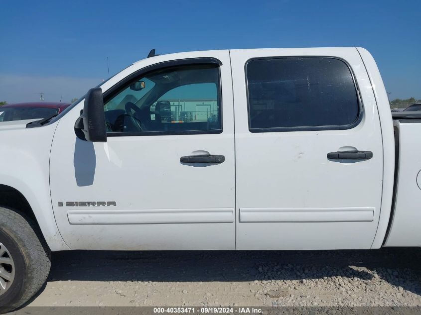
[[103,93],[104,104],[111,100],[114,96],[122,92],[127,84],[140,79],[146,74],[165,68],[172,68],[177,66],[191,66],[191,65],[217,65],[218,69],[218,80],[219,84],[217,86],[217,101],[220,104],[220,129],[207,129],[207,130],[184,130],[184,131],[141,131],[141,132],[107,132],[107,137],[122,137],[122,136],[150,136],[150,135],[193,135],[193,134],[219,134],[223,132],[223,110],[222,110],[222,78],[221,78],[221,66],[222,62],[214,57],[197,57],[197,58],[187,58],[187,59],[176,59],[159,62],[141,68],[124,79],[120,80],[112,88],[108,89]]

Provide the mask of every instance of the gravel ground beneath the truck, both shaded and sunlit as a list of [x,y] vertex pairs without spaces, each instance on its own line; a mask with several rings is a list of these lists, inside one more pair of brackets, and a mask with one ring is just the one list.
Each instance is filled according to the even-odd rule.
[[421,248],[53,253],[30,306],[421,306]]

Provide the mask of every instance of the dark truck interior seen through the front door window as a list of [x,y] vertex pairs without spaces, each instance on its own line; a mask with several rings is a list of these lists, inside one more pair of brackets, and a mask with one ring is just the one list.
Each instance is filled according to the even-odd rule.
[[[171,117],[171,105],[167,100],[162,99],[167,92],[179,87],[204,83],[215,84],[217,117],[221,117],[219,69],[215,65],[165,68],[143,75],[135,82],[146,82],[144,90],[147,92],[143,93],[139,99],[136,97],[136,91],[131,89],[134,85],[132,82],[105,100],[107,132],[144,133],[222,129],[220,119],[192,120],[188,124],[183,120],[174,121]],[[123,99],[116,102],[122,96]]]

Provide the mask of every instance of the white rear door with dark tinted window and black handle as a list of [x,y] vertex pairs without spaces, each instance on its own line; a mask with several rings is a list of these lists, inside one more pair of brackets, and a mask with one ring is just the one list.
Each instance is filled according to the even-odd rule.
[[237,249],[370,248],[382,135],[357,50],[230,54]]

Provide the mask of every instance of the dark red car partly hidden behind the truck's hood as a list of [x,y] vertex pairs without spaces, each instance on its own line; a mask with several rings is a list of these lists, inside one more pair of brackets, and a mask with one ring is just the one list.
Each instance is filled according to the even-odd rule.
[[0,106],[0,121],[46,118],[62,112],[71,103],[34,102]]

